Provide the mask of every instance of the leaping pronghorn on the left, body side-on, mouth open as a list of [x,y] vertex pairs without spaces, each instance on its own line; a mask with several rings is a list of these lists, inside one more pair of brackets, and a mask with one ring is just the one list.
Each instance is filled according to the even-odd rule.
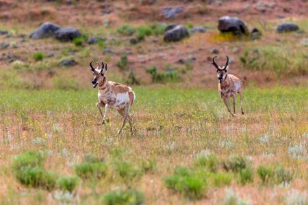
[[[97,68],[93,68],[92,62],[90,62],[91,71],[93,72],[94,78],[92,80],[93,88],[99,85],[99,102],[97,102],[97,107],[99,113],[103,117],[102,124],[109,122],[107,118],[107,111],[111,109],[116,109],[120,115],[123,117],[123,123],[118,131],[118,135],[122,132],[125,122],[129,120],[129,127],[131,133],[133,133],[133,118],[129,115],[129,109],[133,105],[133,101],[136,99],[136,95],[131,90],[131,87],[123,85],[120,83],[114,83],[112,81],[107,81],[106,73],[108,70],[107,63],[100,65],[97,63]],[[101,67],[101,68],[100,68]],[[101,111],[101,107],[105,107],[105,114]]]

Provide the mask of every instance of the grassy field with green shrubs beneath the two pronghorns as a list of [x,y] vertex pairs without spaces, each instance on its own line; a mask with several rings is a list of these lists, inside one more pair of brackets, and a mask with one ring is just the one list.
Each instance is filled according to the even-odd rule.
[[0,204],[307,204],[307,87],[248,87],[236,118],[217,90],[134,90],[133,136],[97,90],[1,91]]

